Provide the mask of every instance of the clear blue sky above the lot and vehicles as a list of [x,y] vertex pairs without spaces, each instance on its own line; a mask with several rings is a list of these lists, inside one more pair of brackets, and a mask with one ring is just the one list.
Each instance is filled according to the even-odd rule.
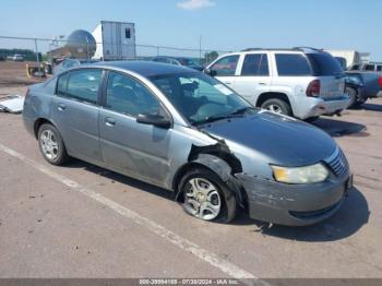
[[139,44],[198,48],[202,35],[205,49],[313,46],[382,60],[381,11],[380,0],[2,0],[0,35],[51,38],[109,20],[134,22]]

